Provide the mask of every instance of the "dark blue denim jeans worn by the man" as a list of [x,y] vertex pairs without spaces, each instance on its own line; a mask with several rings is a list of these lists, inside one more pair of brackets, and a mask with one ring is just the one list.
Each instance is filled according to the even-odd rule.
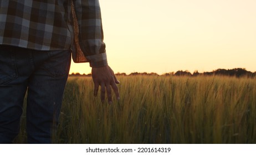
[[0,45],[0,143],[18,135],[26,91],[28,143],[52,142],[70,61],[69,50]]

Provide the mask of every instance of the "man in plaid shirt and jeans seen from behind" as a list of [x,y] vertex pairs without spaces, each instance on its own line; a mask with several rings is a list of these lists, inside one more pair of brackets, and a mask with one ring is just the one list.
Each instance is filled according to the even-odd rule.
[[94,95],[101,86],[101,100],[106,92],[111,103],[112,87],[119,99],[119,81],[107,65],[98,0],[6,0],[0,6],[0,143],[17,136],[26,91],[28,143],[51,143],[71,51],[75,62],[90,63]]

